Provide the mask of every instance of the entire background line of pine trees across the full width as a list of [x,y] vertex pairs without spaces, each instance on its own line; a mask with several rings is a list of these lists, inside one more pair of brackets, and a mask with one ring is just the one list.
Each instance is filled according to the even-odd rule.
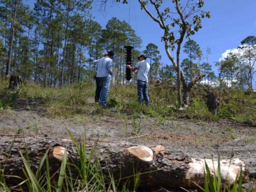
[[[92,79],[95,74],[92,61],[113,49],[116,57],[111,81],[123,84],[125,45],[134,47],[133,62],[140,52],[148,55],[151,80],[176,78],[172,65],[161,62],[155,44],[140,50],[142,39],[127,22],[113,17],[106,26],[101,26],[94,21],[90,12],[92,1],[37,0],[32,10],[22,0],[0,0],[0,78],[16,74],[25,82],[44,87],[79,83]],[[204,72],[204,83],[218,80],[223,86],[252,90],[256,37],[245,38],[238,49],[238,53],[230,53],[215,63],[219,70],[217,78],[208,62],[211,50],[207,48],[203,53],[195,41],[186,41],[183,52],[187,58],[181,62],[186,83]]]

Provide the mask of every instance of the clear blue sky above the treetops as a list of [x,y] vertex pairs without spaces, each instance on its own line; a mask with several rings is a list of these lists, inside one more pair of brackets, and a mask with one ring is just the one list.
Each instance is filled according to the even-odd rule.
[[[35,3],[35,0],[23,1],[31,7]],[[171,0],[169,1],[171,3]],[[166,2],[167,0],[165,4],[167,4]],[[106,6],[106,12],[101,12],[99,9],[99,3],[95,1],[92,15],[94,20],[99,22],[103,28],[112,17],[125,20],[143,39],[141,51],[145,49],[147,44],[154,43],[159,47],[162,62],[171,64],[166,56],[163,42],[161,42],[162,29],[144,10],[140,9],[137,0],[128,0],[128,4],[125,5],[109,3]],[[212,54],[209,55],[209,63],[212,64],[215,74],[218,75],[214,62],[218,61],[226,50],[238,47],[247,36],[256,35],[256,0],[205,0],[204,10],[210,11],[211,18],[203,20],[202,29],[193,35],[192,39],[199,44],[205,55],[207,47],[211,49]],[[186,55],[182,50],[181,61],[185,57]]]

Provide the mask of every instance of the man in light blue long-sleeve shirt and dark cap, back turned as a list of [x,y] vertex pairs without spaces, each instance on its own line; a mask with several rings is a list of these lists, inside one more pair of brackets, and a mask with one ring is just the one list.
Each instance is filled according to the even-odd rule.
[[110,85],[110,76],[112,75],[112,65],[115,53],[111,50],[108,56],[101,58],[96,65],[96,78],[99,78],[99,85],[102,87],[99,104],[102,106],[107,105],[108,91]]

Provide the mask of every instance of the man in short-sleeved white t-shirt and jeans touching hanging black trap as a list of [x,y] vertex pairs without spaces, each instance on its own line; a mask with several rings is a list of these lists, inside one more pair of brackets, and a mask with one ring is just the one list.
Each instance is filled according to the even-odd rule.
[[131,65],[126,65],[126,67],[131,71],[138,70],[137,89],[139,102],[143,103],[143,101],[145,101],[146,105],[149,107],[150,102],[148,97],[148,72],[150,70],[150,65],[147,61],[145,61],[146,58],[147,56],[142,54],[140,57],[138,57],[139,62],[135,65],[134,68],[131,68]]

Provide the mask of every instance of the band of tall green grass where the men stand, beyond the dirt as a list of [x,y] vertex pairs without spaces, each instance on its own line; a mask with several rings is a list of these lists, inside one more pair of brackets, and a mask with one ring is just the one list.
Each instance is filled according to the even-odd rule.
[[[149,98],[151,107],[140,105],[137,101],[137,85],[111,85],[108,96],[109,108],[102,110],[93,104],[95,84],[92,81],[58,87],[41,87],[36,84],[23,84],[18,91],[8,90],[8,82],[0,82],[0,112],[13,107],[17,99],[33,100],[44,106],[44,112],[51,117],[72,118],[76,115],[125,114],[132,118],[143,113],[151,117],[188,118],[201,120],[233,119],[238,122],[256,123],[256,94],[235,90],[218,90],[220,100],[218,115],[212,116],[206,106],[206,93],[192,90],[190,105],[180,111],[177,105],[177,93],[169,84],[150,84]],[[161,88],[163,87],[163,88]]]

